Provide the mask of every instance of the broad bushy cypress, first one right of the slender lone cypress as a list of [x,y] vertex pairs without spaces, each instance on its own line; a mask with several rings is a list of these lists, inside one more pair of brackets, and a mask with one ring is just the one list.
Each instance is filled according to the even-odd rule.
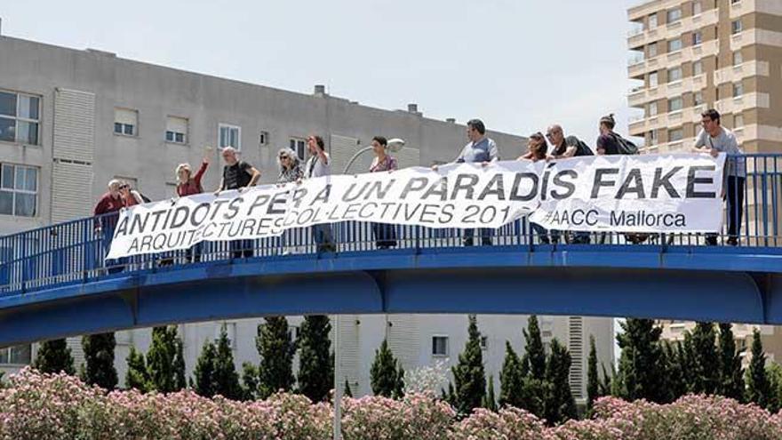
[[617,335],[617,340],[622,353],[612,383],[614,394],[630,402],[637,399],[665,402],[667,392],[659,362],[662,330],[650,319],[628,318],[619,325],[623,332]]

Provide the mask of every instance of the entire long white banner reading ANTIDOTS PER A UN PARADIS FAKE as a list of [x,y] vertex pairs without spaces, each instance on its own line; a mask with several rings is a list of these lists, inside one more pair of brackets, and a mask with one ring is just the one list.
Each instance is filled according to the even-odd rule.
[[560,230],[714,232],[722,224],[724,161],[649,155],[451,164],[201,194],[121,212],[107,258],[347,220],[499,228],[532,213]]

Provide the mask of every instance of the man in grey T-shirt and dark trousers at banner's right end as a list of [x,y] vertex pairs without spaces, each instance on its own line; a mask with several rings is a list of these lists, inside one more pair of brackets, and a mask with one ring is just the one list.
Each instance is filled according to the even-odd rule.
[[[709,108],[701,115],[700,124],[703,129],[698,133],[693,151],[719,156],[720,153],[730,155],[725,162],[725,174],[722,181],[722,198],[728,204],[728,244],[738,244],[741,233],[741,218],[744,214],[744,186],[746,181],[746,163],[744,152],[738,148],[736,135],[720,123],[720,112]],[[716,245],[717,235],[707,234],[706,244]]]

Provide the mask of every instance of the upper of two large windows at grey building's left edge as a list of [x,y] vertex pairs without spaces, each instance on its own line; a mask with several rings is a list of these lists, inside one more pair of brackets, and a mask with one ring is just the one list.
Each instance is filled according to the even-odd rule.
[[41,98],[0,91],[0,140],[38,145]]

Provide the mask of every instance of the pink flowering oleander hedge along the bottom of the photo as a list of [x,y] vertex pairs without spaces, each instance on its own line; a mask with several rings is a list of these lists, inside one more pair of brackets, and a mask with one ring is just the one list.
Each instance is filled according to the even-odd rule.
[[[0,389],[0,439],[151,440],[331,438],[331,405],[275,394],[265,401],[105,392],[64,374],[26,369]],[[529,412],[475,410],[464,420],[432,393],[402,400],[345,399],[345,440],[782,440],[782,414],[720,396],[684,396],[674,404],[603,397],[591,420],[547,428]]]

